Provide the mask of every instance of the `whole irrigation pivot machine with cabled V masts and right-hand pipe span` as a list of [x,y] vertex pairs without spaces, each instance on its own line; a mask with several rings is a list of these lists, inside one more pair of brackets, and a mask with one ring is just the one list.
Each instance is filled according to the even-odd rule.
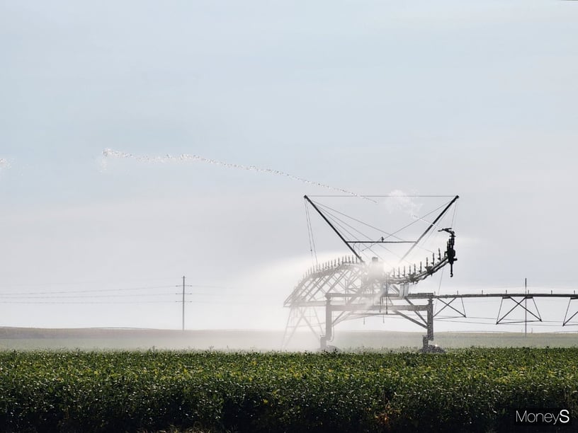
[[[535,297],[569,299],[561,325],[567,325],[577,316],[578,311],[573,314],[570,311],[572,301],[578,299],[575,294],[532,294],[527,290],[511,294],[507,291],[493,294],[436,294],[431,289],[417,291],[417,284],[438,272],[443,275],[446,268],[449,268],[450,277],[453,277],[453,267],[458,260],[453,222],[459,197],[421,196],[441,197],[444,200],[441,205],[421,216],[416,215],[421,208],[412,201],[413,197],[420,196],[361,198],[377,203],[372,197],[397,200],[397,210],[402,211],[398,213],[405,214],[406,224],[401,224],[397,230],[385,231],[379,229],[377,224],[368,224],[339,209],[312,200],[316,197],[304,197],[314,264],[285,299],[284,306],[290,308],[290,313],[283,347],[287,347],[297,329],[306,328],[319,338],[319,345],[325,350],[333,340],[335,326],[341,322],[371,316],[382,316],[385,321],[386,316],[397,316],[425,330],[424,352],[437,351],[438,347],[431,344],[434,317],[442,311],[450,311],[457,314],[455,317],[465,318],[464,298],[501,297],[497,325],[519,323],[512,319],[512,313],[516,310],[523,311],[524,323],[542,321]],[[347,248],[348,255],[324,262],[317,260],[312,233],[315,214],[322,225],[336,235],[342,248]],[[411,216],[409,223],[408,214]],[[434,301],[438,311],[434,311]],[[508,303],[511,308],[503,308]]]

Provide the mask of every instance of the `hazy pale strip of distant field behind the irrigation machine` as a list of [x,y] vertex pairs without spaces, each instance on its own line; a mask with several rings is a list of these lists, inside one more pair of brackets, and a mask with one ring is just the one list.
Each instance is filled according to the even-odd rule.
[[[281,331],[0,328],[0,350],[280,350]],[[437,333],[436,345],[458,347],[576,347],[578,333]],[[336,333],[342,350],[417,349],[421,333]],[[288,350],[317,350],[311,333],[295,335]]]

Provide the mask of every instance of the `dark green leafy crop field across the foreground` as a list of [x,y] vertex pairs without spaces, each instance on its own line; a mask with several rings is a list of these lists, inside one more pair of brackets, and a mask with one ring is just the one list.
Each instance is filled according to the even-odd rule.
[[31,432],[511,431],[512,408],[578,414],[577,361],[577,348],[5,351],[0,426]]

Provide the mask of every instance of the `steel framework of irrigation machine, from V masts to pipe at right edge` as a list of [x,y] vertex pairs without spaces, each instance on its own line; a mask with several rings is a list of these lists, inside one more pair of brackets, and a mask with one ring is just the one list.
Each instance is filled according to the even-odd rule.
[[[427,277],[435,274],[446,265],[450,265],[450,273],[453,275],[453,262],[455,258],[455,233],[453,229],[446,228],[438,231],[448,233],[449,239],[443,254],[438,248],[438,254],[433,253],[419,264],[405,265],[388,272],[384,270],[384,263],[373,257],[370,262],[365,262],[361,255],[354,248],[362,243],[412,243],[409,250],[403,255],[402,260],[407,257],[410,251],[421,241],[433,226],[441,219],[444,213],[458,199],[446,205],[438,217],[429,225],[424,233],[414,242],[407,241],[387,241],[387,238],[380,238],[378,241],[351,241],[348,240],[339,229],[331,224],[330,217],[327,217],[322,210],[305,196],[312,207],[323,217],[324,221],[331,226],[331,229],[341,238],[353,255],[338,258],[322,265],[311,267],[295,289],[285,299],[284,306],[290,308],[290,314],[283,337],[283,347],[287,347],[295,332],[300,328],[309,329],[316,337],[322,349],[327,348],[327,342],[333,338],[334,326],[343,321],[368,316],[401,316],[426,330],[424,335],[424,350],[431,350],[433,347],[429,342],[433,340],[433,318],[445,311],[453,317],[466,318],[464,299],[480,298],[502,298],[500,303],[496,325],[511,323],[541,322],[542,317],[538,311],[535,298],[567,298],[564,319],[561,325],[578,324],[572,322],[578,316],[578,308],[575,303],[578,296],[573,294],[553,293],[531,293],[527,290],[520,293],[508,294],[433,294],[420,293],[410,289],[415,284],[423,281]],[[436,226],[437,227],[437,226]],[[407,260],[406,260],[407,263]],[[438,311],[434,313],[433,301],[439,305]],[[456,302],[458,301],[458,302]],[[458,304],[461,304],[461,308]],[[529,304],[529,305],[528,305]],[[571,307],[574,308],[571,308]],[[514,318],[514,311],[523,311],[524,318]],[[452,318],[452,316],[445,316]]]

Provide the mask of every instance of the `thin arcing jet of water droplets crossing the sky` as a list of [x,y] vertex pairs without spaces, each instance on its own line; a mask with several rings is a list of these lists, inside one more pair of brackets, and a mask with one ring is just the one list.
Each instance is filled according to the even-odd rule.
[[113,149],[104,149],[102,152],[103,155],[103,169],[106,169],[106,158],[128,158],[132,159],[137,162],[145,162],[145,163],[169,163],[169,162],[193,162],[199,161],[203,163],[212,164],[215,166],[225,167],[225,168],[237,168],[238,170],[246,170],[246,171],[255,171],[257,173],[268,173],[271,175],[278,175],[284,176],[285,178],[290,178],[293,180],[297,180],[298,182],[307,183],[308,185],[314,185],[322,188],[327,188],[328,190],[344,192],[347,195],[353,195],[354,197],[359,197],[363,200],[368,200],[370,202],[375,202],[367,197],[363,197],[363,195],[358,195],[355,192],[351,192],[348,190],[344,190],[338,187],[332,187],[331,185],[326,185],[324,183],[315,182],[314,180],[307,180],[304,178],[300,178],[299,176],[292,175],[290,173],[285,173],[283,171],[273,170],[272,168],[259,168],[256,166],[244,166],[242,164],[236,163],[226,163],[222,161],[217,161],[211,158],[203,158],[203,156],[198,155],[188,155],[188,154],[181,154],[180,156],[138,156],[134,154],[128,154],[127,152],[123,151],[115,151]]

